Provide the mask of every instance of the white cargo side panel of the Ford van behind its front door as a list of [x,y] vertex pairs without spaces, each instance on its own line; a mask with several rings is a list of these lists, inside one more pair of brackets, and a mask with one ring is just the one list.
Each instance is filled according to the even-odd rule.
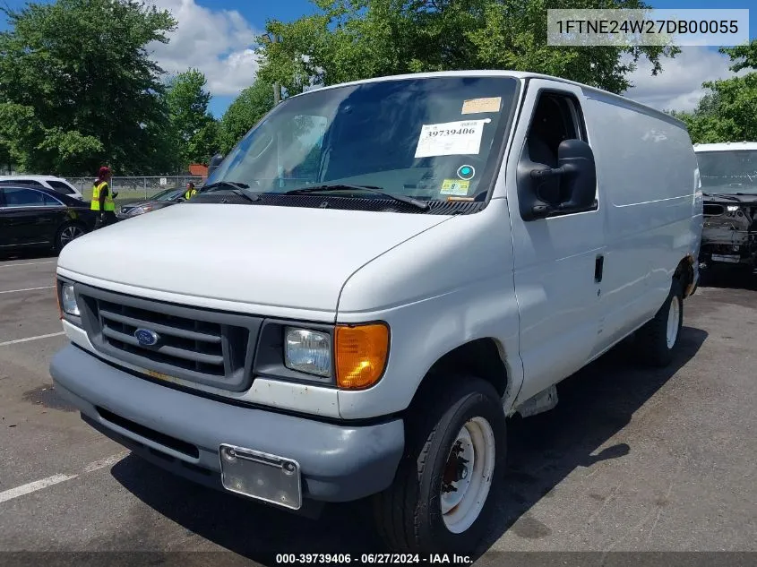
[[606,203],[606,258],[596,353],[657,313],[678,263],[696,249],[697,163],[675,120],[595,90],[584,112]]

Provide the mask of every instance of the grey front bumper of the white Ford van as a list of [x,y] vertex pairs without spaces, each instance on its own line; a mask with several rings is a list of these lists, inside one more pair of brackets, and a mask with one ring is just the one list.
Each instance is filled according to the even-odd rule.
[[348,502],[391,485],[404,425],[335,425],[245,408],[150,382],[69,345],[50,365],[56,390],[101,433],[179,476],[220,488],[219,445],[297,460],[305,500]]

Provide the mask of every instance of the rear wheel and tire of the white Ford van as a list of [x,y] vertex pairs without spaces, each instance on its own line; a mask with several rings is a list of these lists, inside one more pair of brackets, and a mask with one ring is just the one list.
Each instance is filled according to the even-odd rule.
[[674,279],[670,293],[654,319],[638,331],[637,345],[642,361],[660,368],[669,365],[683,326],[684,290],[681,282]]

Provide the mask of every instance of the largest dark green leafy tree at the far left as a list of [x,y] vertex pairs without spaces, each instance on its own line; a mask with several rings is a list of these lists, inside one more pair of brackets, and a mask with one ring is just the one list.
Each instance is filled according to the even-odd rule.
[[136,0],[0,8],[0,138],[19,168],[91,175],[168,172],[163,73],[146,46],[176,21]]

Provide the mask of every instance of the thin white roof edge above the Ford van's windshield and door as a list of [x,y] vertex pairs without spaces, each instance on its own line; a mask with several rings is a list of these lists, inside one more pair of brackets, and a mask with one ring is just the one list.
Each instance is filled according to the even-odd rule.
[[610,97],[617,100],[618,102],[624,103],[626,106],[642,109],[647,114],[652,114],[654,116],[663,118],[667,120],[668,122],[673,121],[678,125],[684,126],[684,128],[686,127],[684,122],[675,118],[675,116],[671,116],[665,112],[662,112],[661,110],[658,110],[657,108],[649,107],[645,104],[642,104],[641,102],[637,102],[636,100],[629,99],[627,97],[615,94],[614,92],[610,92],[608,90],[598,89],[597,87],[592,87],[590,85],[583,84],[581,82],[570,81],[568,79],[563,79],[561,77],[555,77],[552,75],[546,75],[542,73],[528,73],[524,71],[507,71],[507,70],[499,70],[499,69],[497,70],[481,69],[481,70],[466,70],[466,71],[434,71],[434,72],[428,72],[428,73],[405,73],[405,74],[399,74],[399,75],[388,75],[385,77],[374,77],[372,79],[362,79],[360,81],[341,82],[339,84],[329,85],[326,87],[314,87],[313,89],[305,90],[304,92],[295,96],[299,97],[313,90],[336,89],[338,87],[363,84],[367,82],[401,81],[401,80],[407,80],[407,79],[433,79],[435,77],[512,77],[513,79],[520,79],[520,80],[546,79],[548,81],[564,82],[565,84],[569,84],[575,87],[581,87],[582,90],[589,90],[589,91],[601,93],[606,97]]

